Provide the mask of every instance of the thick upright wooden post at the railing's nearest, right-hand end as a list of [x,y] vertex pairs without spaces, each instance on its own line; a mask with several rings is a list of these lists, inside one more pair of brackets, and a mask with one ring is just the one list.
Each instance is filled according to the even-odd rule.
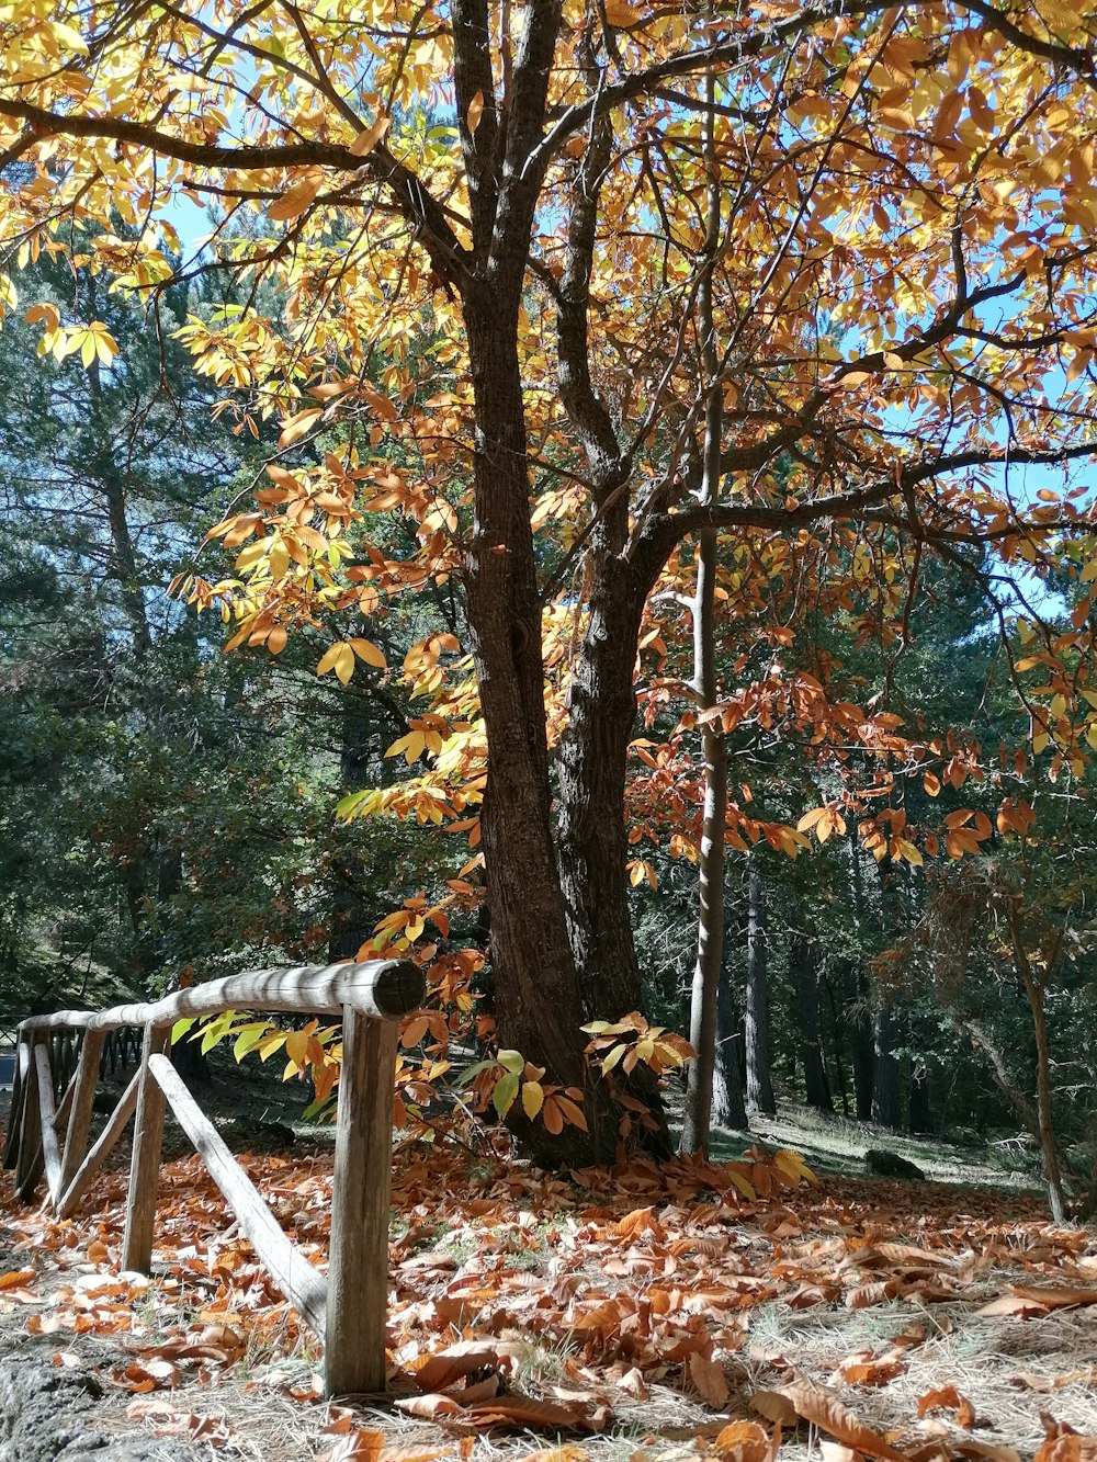
[[328,1396],[385,1390],[396,1031],[342,1010],[323,1379]]

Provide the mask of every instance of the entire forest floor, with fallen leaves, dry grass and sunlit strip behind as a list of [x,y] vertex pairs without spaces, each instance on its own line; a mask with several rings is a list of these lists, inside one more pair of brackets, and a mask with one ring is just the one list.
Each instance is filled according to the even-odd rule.
[[[247,1079],[230,1086],[238,1111]],[[294,1092],[244,1096],[241,1140],[276,1139]],[[193,1155],[165,1167],[151,1282],[117,1269],[124,1152],[70,1224],[15,1206],[6,1178],[0,1367],[91,1373],[107,1436],[257,1462],[1012,1462],[1049,1427],[1097,1437],[1097,1237],[967,1149],[796,1113],[755,1136],[804,1151],[819,1184],[778,1175],[747,1202],[720,1167],[565,1181],[398,1145],[391,1396],[353,1406],[319,1399],[316,1342]],[[957,1181],[851,1175],[869,1145]],[[243,1161],[322,1259],[329,1143]]]

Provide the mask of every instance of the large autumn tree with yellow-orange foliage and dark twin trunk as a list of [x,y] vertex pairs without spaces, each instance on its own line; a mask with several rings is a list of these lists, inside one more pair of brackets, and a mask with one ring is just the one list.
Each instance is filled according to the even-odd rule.
[[[190,262],[233,272],[243,303],[186,338],[244,423],[281,414],[275,487],[225,529],[235,576],[186,589],[263,643],[459,576],[490,746],[500,1037],[587,1088],[589,1133],[534,1126],[535,1151],[611,1152],[616,1113],[579,1026],[639,1004],[625,766],[648,596],[679,545],[734,535],[744,573],[863,596],[900,636],[905,583],[935,553],[1003,614],[1000,569],[971,545],[992,542],[1003,567],[1093,561],[1077,494],[1015,491],[1025,465],[1094,455],[1087,22],[1058,12],[1052,29],[989,0],[705,15],[453,0],[383,25],[345,0],[322,15],[184,0],[48,18],[16,0],[1,64],[10,254],[56,249],[76,211],[120,215],[133,237],[102,235],[88,263],[148,294],[177,272],[173,200],[265,211],[255,238],[222,230]],[[453,126],[436,121],[437,96]],[[724,491],[708,501],[705,278],[725,406]],[[426,379],[410,348],[423,322],[439,342]],[[69,336],[92,357],[95,323]],[[336,420],[348,444],[285,466]],[[372,461],[386,436],[414,480]],[[414,519],[414,560],[344,556],[344,528],[379,500]],[[550,735],[553,614],[573,642]],[[354,652],[331,664],[351,671]],[[1034,711],[1037,751],[1079,754],[1091,722],[1072,705]],[[838,756],[850,713],[823,719]],[[902,754],[894,724],[864,724]],[[885,811],[866,844],[920,860],[914,829]],[[917,836],[970,851],[955,829]],[[799,846],[791,830],[784,842]],[[642,1066],[633,1092],[666,1151]]]

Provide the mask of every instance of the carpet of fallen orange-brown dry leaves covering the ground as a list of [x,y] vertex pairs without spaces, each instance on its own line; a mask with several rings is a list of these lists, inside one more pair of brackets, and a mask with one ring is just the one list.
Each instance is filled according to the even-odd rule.
[[[613,1180],[581,1174],[597,1197],[579,1200],[570,1184],[502,1165],[471,1183],[458,1155],[436,1151],[427,1161],[421,1151],[408,1148],[396,1162],[402,1222],[389,1304],[395,1405],[434,1424],[440,1439],[415,1453],[418,1462],[467,1458],[467,1444],[489,1430],[591,1436],[617,1420],[642,1425],[645,1405],[667,1387],[715,1414],[712,1427],[698,1425],[696,1450],[718,1462],[772,1462],[790,1437],[809,1434],[825,1462],[1014,1462],[1009,1439],[979,1417],[979,1398],[952,1385],[911,1402],[898,1431],[869,1424],[866,1402],[907,1376],[927,1336],[951,1329],[943,1304],[998,1325],[1097,1304],[1097,1246],[1052,1228],[1022,1199],[919,1190],[908,1215],[897,1205],[910,1190],[796,1190],[756,1164],[753,1178],[768,1183],[769,1197],[746,1202],[742,1170],[677,1164],[663,1173],[636,1165]],[[329,1159],[244,1165],[285,1230],[323,1263]],[[0,1275],[0,1311],[26,1311],[29,1330],[56,1333],[61,1366],[73,1363],[67,1336],[118,1336],[130,1354],[105,1379],[136,1393],[132,1415],[165,1434],[224,1444],[231,1428],[195,1405],[196,1387],[246,1351],[285,1354],[303,1338],[300,1322],[228,1228],[197,1159],[165,1174],[152,1285],[117,1272],[124,1193],[123,1174],[105,1175],[97,1209],[78,1224],[13,1209],[26,1257]],[[958,1197],[974,1212],[957,1212]],[[791,1342],[784,1352],[749,1344],[752,1316],[768,1304],[829,1313],[910,1306],[911,1319],[888,1341],[835,1354],[821,1386],[797,1373]],[[186,1327],[180,1307],[193,1314]],[[759,1386],[762,1373],[772,1379]],[[290,1382],[262,1361],[252,1386],[303,1404],[320,1396],[317,1379]],[[1055,1382],[1018,1368],[1015,1386],[1036,1395]],[[355,1428],[353,1412],[336,1409],[336,1421],[331,1462],[408,1462],[382,1433]],[[1038,1462],[1097,1462],[1093,1449],[1049,1418]],[[660,1458],[646,1446],[639,1455]],[[587,1456],[569,1443],[544,1462]]]

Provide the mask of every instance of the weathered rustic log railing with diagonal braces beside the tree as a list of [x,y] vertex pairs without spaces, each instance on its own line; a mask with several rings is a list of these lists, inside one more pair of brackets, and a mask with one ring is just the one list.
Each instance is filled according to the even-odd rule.
[[[45,1177],[54,1212],[67,1218],[136,1113],[121,1266],[148,1273],[157,1221],[165,1108],[195,1143],[260,1263],[323,1341],[329,1396],[385,1389],[389,1275],[392,1086],[396,1020],[423,999],[423,975],[402,961],[260,969],[192,985],[149,1004],[59,1010],[19,1025],[15,1089],[3,1165],[31,1200]],[[328,1276],[285,1235],[221,1135],[167,1057],[184,1016],[224,1010],[285,1010],[342,1018],[342,1070],[335,1129],[335,1178]],[[91,1142],[104,1041],[143,1031],[140,1066],[113,1116]],[[60,1080],[59,1050],[79,1038],[75,1070]]]

